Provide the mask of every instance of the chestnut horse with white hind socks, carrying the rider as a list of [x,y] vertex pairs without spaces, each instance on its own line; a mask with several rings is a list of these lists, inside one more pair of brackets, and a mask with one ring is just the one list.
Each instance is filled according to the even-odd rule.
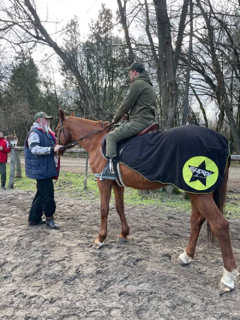
[[[71,116],[65,116],[64,112],[60,110],[60,122],[56,129],[56,143],[67,146],[69,143],[84,137],[81,139],[80,144],[89,154],[89,162],[92,172],[101,172],[106,166],[107,160],[102,157],[100,146],[102,138],[111,128],[109,125],[109,122],[92,121],[75,117],[74,113]],[[67,148],[69,147],[71,148],[71,146],[68,146]],[[61,148],[59,150],[59,155],[62,155],[64,151],[65,148]],[[122,180],[127,187],[140,190],[153,190],[166,187],[165,184],[150,182],[144,179],[140,174],[129,169],[124,164],[120,164],[120,172]],[[224,218],[221,212],[225,201],[227,180],[228,166],[226,168],[222,185],[220,188],[215,190],[216,194],[219,195],[218,202],[220,203],[220,209],[213,200],[213,193],[189,193],[192,207],[191,233],[185,251],[179,256],[179,262],[181,265],[186,265],[193,259],[201,226],[203,222],[207,220],[214,236],[216,236],[219,241],[223,258],[223,276],[219,287],[223,291],[232,291],[234,289],[234,280],[238,275],[238,272],[228,231],[228,221]],[[119,187],[115,180],[107,180],[107,182],[104,182],[98,179],[97,183],[101,200],[101,224],[99,235],[93,244],[95,249],[101,248],[107,237],[107,220],[112,188],[115,194],[116,211],[119,214],[122,224],[122,231],[119,235],[119,240],[121,242],[125,242],[129,235],[129,226],[124,214],[124,188]],[[220,192],[220,190],[222,190],[222,192]]]

